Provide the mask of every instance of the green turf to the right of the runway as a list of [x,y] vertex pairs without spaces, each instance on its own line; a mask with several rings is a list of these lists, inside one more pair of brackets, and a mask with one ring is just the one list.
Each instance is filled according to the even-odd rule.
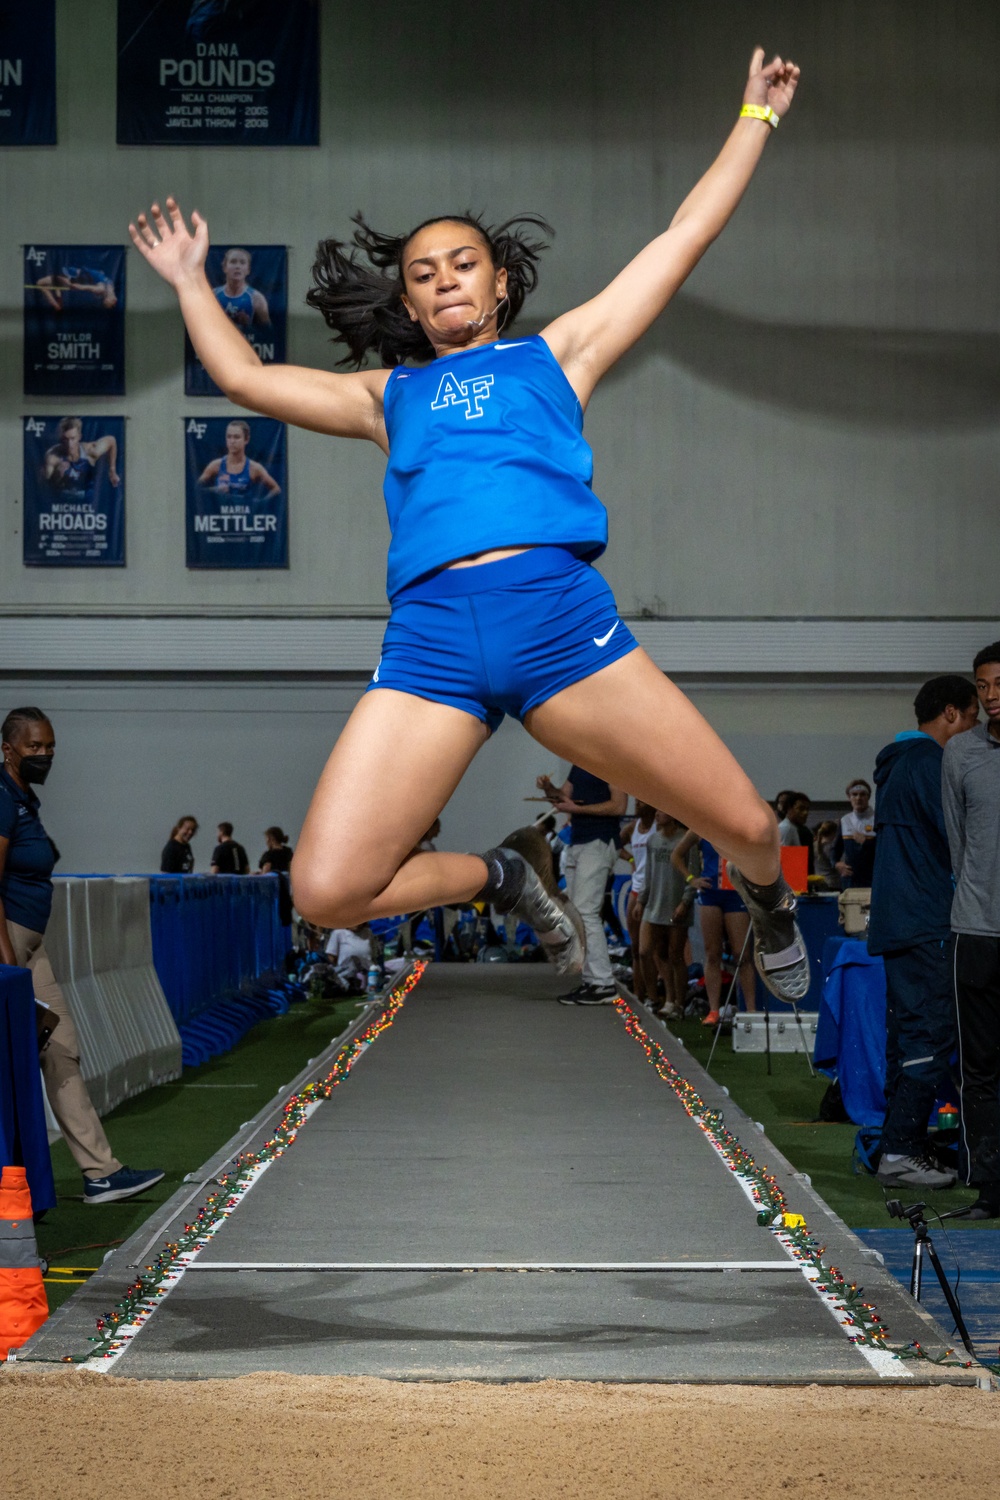
[[[708,1062],[712,1034],[700,1022],[670,1022],[670,1030],[702,1066]],[[883,1190],[868,1173],[855,1173],[852,1155],[856,1125],[826,1125],[819,1119],[820,1100],[829,1078],[813,1078],[804,1053],[772,1053],[771,1077],[763,1053],[736,1053],[730,1035],[720,1036],[712,1059],[712,1077],[753,1120],[763,1125],[769,1140],[798,1172],[805,1172],[813,1186],[852,1228],[889,1228]],[[754,1140],[744,1146],[760,1161]],[[760,1161],[762,1166],[766,1162]],[[894,1197],[898,1194],[889,1194]],[[927,1202],[942,1214],[972,1203],[973,1188],[928,1192]],[[979,1226],[969,1226],[970,1228]],[[994,1227],[996,1221],[984,1221]]]

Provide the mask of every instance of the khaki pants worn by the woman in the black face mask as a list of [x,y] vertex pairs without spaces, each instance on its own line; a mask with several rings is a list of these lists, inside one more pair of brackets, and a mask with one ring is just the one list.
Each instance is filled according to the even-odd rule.
[[79,1071],[76,1028],[69,1014],[66,996],[48,962],[45,936],[33,933],[30,927],[18,927],[12,921],[7,921],[7,932],[19,968],[31,972],[36,998],[58,1016],[58,1026],[39,1058],[52,1114],[58,1120],[63,1138],[84,1176],[106,1178],[109,1173],[118,1172],[121,1162],[112,1154],[103,1125],[90,1102],[87,1084]]

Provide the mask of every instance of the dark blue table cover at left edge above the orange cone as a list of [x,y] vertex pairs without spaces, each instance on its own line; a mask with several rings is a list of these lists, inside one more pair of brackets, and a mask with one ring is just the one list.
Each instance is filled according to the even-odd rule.
[[0,963],[0,1167],[25,1168],[36,1214],[55,1208],[31,975],[6,963]]

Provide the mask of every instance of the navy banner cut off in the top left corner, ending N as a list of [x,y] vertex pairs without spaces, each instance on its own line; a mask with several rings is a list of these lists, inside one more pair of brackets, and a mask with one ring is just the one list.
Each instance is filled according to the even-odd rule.
[[55,0],[0,4],[0,146],[55,146]]

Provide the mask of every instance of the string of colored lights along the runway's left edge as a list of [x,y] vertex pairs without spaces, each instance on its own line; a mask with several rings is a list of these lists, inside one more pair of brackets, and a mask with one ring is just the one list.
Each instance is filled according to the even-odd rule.
[[417,962],[406,976],[393,988],[385,1002],[385,1008],[358,1036],[355,1036],[342,1052],[325,1078],[307,1083],[298,1094],[286,1100],[282,1110],[282,1120],[270,1140],[264,1142],[259,1150],[246,1150],[234,1158],[229,1170],[216,1179],[216,1190],[210,1192],[204,1204],[198,1209],[193,1222],[184,1224],[183,1233],[175,1240],[168,1240],[163,1250],[142,1269],[142,1274],[126,1288],[123,1298],[111,1312],[97,1318],[97,1332],[91,1336],[93,1348],[88,1354],[63,1356],[63,1364],[78,1365],[97,1359],[112,1359],[135,1338],[139,1328],[156,1311],[162,1298],[183,1274],[186,1262],[192,1260],[202,1245],[216,1233],[225,1220],[238,1208],[241,1198],[250,1190],[256,1178],[271,1161],[283,1156],[306,1119],[334,1089],[351,1076],[351,1070],[358,1058],[367,1052],[376,1036],[396,1020],[406,996],[420,982],[426,963]]

